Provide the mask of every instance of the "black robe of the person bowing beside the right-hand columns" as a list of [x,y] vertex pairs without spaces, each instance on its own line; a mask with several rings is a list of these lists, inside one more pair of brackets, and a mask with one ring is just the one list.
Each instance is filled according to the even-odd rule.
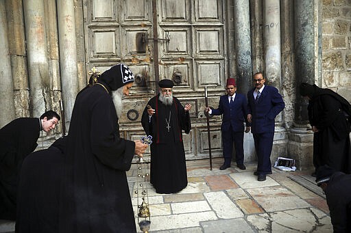
[[329,165],[351,174],[350,124],[335,94],[324,89],[308,102],[308,118],[318,132],[313,134],[313,165]]

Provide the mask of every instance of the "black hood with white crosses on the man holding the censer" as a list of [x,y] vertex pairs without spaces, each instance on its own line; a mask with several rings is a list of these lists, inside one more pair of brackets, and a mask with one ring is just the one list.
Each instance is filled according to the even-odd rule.
[[103,72],[98,82],[106,83],[110,90],[114,91],[123,85],[134,82],[134,75],[128,66],[118,64]]

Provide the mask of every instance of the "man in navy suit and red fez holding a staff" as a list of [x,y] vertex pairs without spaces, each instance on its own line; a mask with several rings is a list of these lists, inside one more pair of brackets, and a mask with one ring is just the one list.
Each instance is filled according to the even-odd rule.
[[[235,93],[237,85],[234,79],[228,79],[226,83],[228,94],[221,96],[219,99],[218,109],[206,108],[210,115],[223,114],[221,125],[223,140],[223,157],[224,163],[219,169],[224,170],[230,167],[232,161],[233,141],[235,146],[235,161],[239,169],[245,170],[244,165],[244,121],[247,119],[247,101],[243,94]],[[245,132],[250,131],[250,124],[246,122]]]

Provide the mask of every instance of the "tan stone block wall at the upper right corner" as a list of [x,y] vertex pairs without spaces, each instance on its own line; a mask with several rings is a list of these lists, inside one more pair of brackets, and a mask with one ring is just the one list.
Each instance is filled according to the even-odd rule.
[[351,0],[322,2],[322,87],[351,101]]

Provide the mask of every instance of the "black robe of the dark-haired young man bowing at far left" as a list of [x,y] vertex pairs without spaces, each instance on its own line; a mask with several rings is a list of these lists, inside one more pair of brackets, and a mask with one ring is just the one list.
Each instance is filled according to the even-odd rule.
[[36,149],[39,118],[18,118],[0,129],[0,219],[16,219],[16,187],[25,156]]

